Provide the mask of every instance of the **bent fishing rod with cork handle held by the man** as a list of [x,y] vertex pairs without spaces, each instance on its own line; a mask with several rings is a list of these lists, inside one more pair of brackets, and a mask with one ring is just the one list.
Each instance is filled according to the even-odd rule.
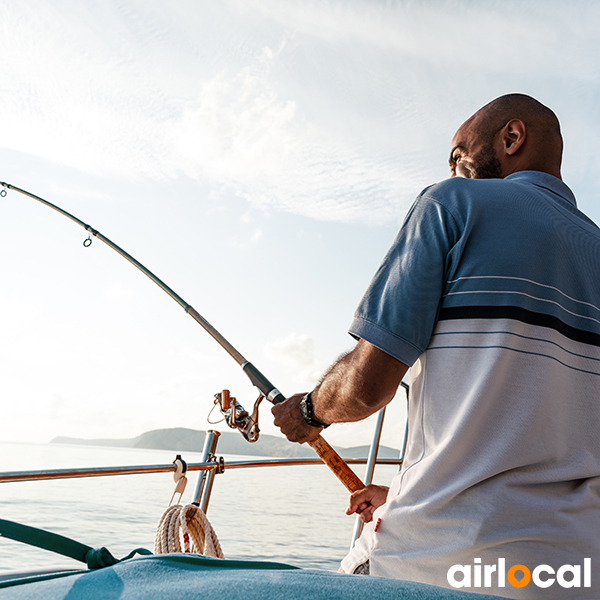
[[[260,393],[271,403],[278,404],[285,400],[285,396],[248,360],[246,360],[202,315],[194,309],[191,304],[188,304],[183,298],[177,295],[168,285],[161,281],[154,273],[149,271],[144,265],[138,260],[133,258],[130,254],[125,252],[122,248],[117,246],[106,236],[102,235],[99,231],[84,223],[77,217],[63,210],[62,208],[32,194],[26,190],[22,190],[10,183],[4,183],[0,181],[0,186],[4,189],[0,192],[0,196],[6,196],[6,190],[14,190],[24,196],[28,196],[33,200],[37,200],[42,204],[54,209],[61,215],[71,219],[71,221],[77,223],[77,225],[83,227],[88,232],[88,238],[83,242],[83,245],[88,247],[92,243],[92,236],[98,238],[104,242],[107,246],[112,248],[115,252],[120,254],[123,258],[128,260],[132,265],[137,267],[144,275],[149,277],[158,287],[166,292],[177,304],[179,304],[185,312],[190,315],[203,329],[213,337],[213,339],[242,367],[242,370],[252,384],[258,388]],[[319,455],[323,462],[334,472],[336,477],[344,484],[349,492],[355,492],[364,488],[363,482],[354,473],[354,471],[344,462],[342,457],[323,439],[318,436],[312,442],[308,442],[308,445]]]

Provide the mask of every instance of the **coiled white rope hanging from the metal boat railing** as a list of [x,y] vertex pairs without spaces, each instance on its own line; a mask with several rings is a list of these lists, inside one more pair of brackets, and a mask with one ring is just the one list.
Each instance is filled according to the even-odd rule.
[[172,552],[193,552],[224,558],[215,530],[204,512],[195,504],[169,506],[160,519],[154,553]]

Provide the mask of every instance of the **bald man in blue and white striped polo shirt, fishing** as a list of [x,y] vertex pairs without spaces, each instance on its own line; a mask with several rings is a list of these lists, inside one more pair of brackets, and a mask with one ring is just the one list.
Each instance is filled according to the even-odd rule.
[[302,443],[363,419],[410,367],[404,464],[389,492],[351,496],[371,523],[343,570],[600,598],[600,231],[533,98],[492,101],[451,147],[452,177],[417,198],[357,309],[356,347],[275,424]]

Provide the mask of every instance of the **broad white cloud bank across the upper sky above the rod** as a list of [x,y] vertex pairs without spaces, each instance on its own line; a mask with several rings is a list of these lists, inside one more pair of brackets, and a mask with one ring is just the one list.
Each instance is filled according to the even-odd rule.
[[560,84],[572,131],[590,124],[570,109],[599,95],[593,3],[3,9],[5,147],[104,177],[184,174],[217,201],[226,190],[321,220],[397,223],[446,176],[453,129],[494,95],[546,101]]

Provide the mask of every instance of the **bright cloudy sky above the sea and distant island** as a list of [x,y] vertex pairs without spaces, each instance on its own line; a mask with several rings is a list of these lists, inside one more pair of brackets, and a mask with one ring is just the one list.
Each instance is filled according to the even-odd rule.
[[[308,391],[493,98],[556,112],[563,178],[600,222],[599,20],[591,1],[0,0],[0,181],[129,252],[284,394]],[[250,408],[233,359],[86,237],[0,198],[0,440],[206,429],[222,389]],[[266,403],[260,426],[277,434]],[[324,435],[371,436],[372,419]]]

